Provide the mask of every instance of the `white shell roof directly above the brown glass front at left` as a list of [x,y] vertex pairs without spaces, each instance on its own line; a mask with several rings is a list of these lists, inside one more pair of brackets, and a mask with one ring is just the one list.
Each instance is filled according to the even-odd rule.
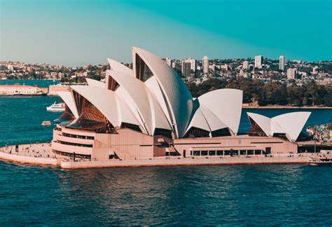
[[71,88],[96,106],[114,127],[120,127],[121,123],[139,125],[127,104],[115,92],[85,85],[73,85]]

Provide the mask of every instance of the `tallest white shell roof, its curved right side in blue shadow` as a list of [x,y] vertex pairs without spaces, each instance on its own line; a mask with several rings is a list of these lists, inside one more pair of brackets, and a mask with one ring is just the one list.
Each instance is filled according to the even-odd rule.
[[[156,55],[153,55],[153,53],[137,47],[132,48],[134,70],[136,54],[141,57],[151,69],[153,76],[157,79],[162,94],[165,96],[165,101],[168,106],[167,109],[170,111],[176,135],[177,137],[183,137],[193,111],[193,97],[191,97],[191,93],[181,80],[180,76],[174,71],[174,69],[168,66],[166,62]],[[134,72],[134,75],[135,74],[136,73]],[[155,92],[155,90],[151,89],[149,86],[148,88],[151,92]],[[158,95],[155,94],[155,96]]]

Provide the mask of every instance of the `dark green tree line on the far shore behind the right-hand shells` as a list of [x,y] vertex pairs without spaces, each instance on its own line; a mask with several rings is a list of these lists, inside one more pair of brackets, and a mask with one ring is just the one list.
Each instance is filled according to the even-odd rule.
[[302,86],[295,81],[289,86],[280,82],[263,83],[262,81],[234,78],[228,81],[211,78],[202,83],[187,84],[193,97],[198,97],[211,90],[235,88],[243,90],[243,102],[258,102],[260,106],[291,105],[291,106],[332,106],[331,86],[317,85],[314,81]]

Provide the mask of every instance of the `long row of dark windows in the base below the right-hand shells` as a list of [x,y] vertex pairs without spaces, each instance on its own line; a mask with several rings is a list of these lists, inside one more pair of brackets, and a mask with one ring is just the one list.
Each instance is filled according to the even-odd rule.
[[224,150],[224,151],[191,151],[191,156],[241,156],[260,155],[263,150]]

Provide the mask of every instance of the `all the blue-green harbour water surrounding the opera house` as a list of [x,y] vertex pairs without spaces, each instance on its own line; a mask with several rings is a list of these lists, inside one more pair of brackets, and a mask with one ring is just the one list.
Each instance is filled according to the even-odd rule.
[[[57,100],[0,97],[0,146],[49,141],[53,126],[41,122],[60,115],[46,111]],[[250,128],[246,111],[312,111],[307,125],[332,119],[331,109],[244,109],[240,132]],[[61,170],[0,161],[0,173],[0,226],[332,225],[331,167]]]

